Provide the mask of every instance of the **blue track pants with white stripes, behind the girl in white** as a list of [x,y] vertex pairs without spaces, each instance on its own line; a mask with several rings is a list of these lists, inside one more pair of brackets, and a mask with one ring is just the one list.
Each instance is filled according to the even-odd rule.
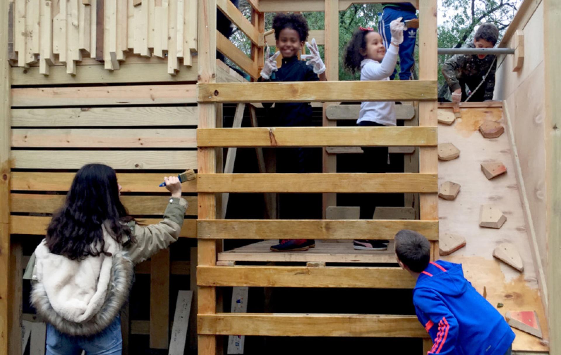
[[[385,48],[392,43],[392,33],[389,30],[389,23],[399,17],[403,17],[403,21],[416,19],[417,15],[412,11],[395,10],[393,8],[384,8],[382,19],[378,24],[378,29],[384,40]],[[403,33],[403,43],[399,45],[399,80],[413,79],[413,67],[415,66],[415,40],[417,39],[417,29],[408,29]],[[390,80],[396,76],[397,70],[393,70]]]

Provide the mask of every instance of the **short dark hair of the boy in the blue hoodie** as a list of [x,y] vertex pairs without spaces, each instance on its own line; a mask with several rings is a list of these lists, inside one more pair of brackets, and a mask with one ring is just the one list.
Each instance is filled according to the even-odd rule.
[[429,266],[430,243],[421,233],[402,229],[396,234],[396,254],[411,271],[420,273]]

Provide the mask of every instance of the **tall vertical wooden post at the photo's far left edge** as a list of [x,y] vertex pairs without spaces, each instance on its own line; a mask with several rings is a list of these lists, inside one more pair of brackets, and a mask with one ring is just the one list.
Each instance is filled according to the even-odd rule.
[[[10,63],[9,2],[0,1],[0,355],[8,353],[8,280],[10,268]],[[19,53],[20,57],[24,53]]]

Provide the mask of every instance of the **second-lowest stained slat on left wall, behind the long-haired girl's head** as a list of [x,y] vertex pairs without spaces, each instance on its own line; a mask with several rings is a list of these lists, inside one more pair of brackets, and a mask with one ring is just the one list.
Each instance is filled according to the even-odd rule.
[[[186,215],[197,215],[197,197],[183,197],[188,207]],[[10,211],[27,213],[54,213],[65,202],[65,195],[33,195],[30,193],[11,193]],[[123,205],[132,215],[163,215],[169,196],[121,196]]]

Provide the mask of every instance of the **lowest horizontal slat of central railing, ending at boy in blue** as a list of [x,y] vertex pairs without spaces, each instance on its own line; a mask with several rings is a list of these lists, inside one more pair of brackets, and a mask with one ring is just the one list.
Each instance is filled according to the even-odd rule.
[[416,316],[217,313],[197,316],[199,334],[427,338]]

